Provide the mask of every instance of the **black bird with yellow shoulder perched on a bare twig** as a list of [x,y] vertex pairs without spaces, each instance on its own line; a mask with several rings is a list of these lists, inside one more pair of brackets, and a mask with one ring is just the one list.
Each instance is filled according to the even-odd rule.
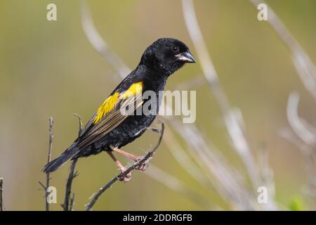
[[[142,157],[121,150],[121,147],[140,137],[157,116],[157,113],[136,113],[136,110],[152,103],[152,110],[158,112],[162,102],[157,99],[159,91],[164,91],[166,80],[185,63],[196,63],[196,60],[183,41],[166,37],[154,41],[145,49],[136,69],[119,83],[88,120],[78,138],[58,158],[48,162],[43,172],[54,172],[69,160],[105,151],[124,174],[126,168],[113,153],[121,153],[138,162]],[[157,98],[144,99],[146,91],[157,94]],[[145,168],[141,165],[138,169]],[[122,180],[130,179],[131,173]]]

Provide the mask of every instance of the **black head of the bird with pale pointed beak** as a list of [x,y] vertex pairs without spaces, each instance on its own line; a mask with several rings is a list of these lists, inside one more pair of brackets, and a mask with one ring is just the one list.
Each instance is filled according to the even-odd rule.
[[173,38],[161,38],[154,41],[143,53],[140,64],[148,68],[171,75],[185,63],[195,63],[189,48]]

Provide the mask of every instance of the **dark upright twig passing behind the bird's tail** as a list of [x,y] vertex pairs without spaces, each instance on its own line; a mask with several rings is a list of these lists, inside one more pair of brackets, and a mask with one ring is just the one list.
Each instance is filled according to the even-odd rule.
[[[81,130],[82,130],[81,129],[82,120],[79,115],[74,114],[74,116],[78,117],[78,120],[79,120],[78,136],[80,136]],[[62,208],[64,209],[64,211],[72,211],[72,207],[74,204],[74,193],[72,194],[72,181],[74,180],[76,176],[78,176],[78,173],[74,172],[74,168],[76,167],[77,161],[78,161],[77,158],[72,160],[72,164],[70,165],[70,172],[69,172],[69,176],[66,183],[65,200],[64,200],[64,203],[62,204]],[[73,196],[72,198],[70,197],[71,194]]]

